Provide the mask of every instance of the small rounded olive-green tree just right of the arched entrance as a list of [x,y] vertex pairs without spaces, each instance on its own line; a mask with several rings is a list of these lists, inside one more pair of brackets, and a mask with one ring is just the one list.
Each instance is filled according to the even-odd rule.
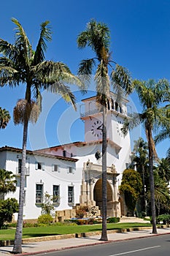
[[120,191],[125,195],[125,205],[129,214],[134,215],[136,201],[142,192],[142,178],[136,170],[125,169],[123,171]]

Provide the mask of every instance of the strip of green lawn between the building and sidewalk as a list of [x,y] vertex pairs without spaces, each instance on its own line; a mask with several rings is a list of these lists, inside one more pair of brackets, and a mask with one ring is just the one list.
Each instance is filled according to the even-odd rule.
[[[130,227],[149,227],[147,223],[108,223],[107,230],[115,230]],[[32,238],[37,236],[54,236],[72,233],[87,233],[101,231],[101,224],[95,225],[64,225],[64,226],[46,226],[46,227],[24,227],[23,238]],[[13,240],[15,229],[0,230],[0,240]]]

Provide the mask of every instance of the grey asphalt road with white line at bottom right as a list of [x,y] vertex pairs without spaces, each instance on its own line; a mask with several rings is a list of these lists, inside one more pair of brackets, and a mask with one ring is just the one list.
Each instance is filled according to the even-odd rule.
[[[39,254],[44,255],[44,254]],[[170,235],[111,242],[45,253],[46,256],[169,256]]]

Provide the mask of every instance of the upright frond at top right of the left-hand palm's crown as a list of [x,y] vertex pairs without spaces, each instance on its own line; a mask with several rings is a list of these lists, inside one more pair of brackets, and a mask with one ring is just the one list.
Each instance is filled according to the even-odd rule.
[[33,65],[38,64],[39,62],[42,62],[45,60],[45,51],[47,50],[46,42],[51,41],[52,37],[52,31],[50,26],[47,26],[50,22],[46,20],[41,24],[41,33],[39,37],[39,42],[36,46],[36,51],[34,53],[34,63]]

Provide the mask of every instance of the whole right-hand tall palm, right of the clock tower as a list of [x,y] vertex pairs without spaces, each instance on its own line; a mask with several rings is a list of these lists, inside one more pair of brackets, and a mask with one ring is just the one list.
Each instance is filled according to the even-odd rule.
[[155,149],[152,132],[154,128],[161,127],[168,123],[166,110],[161,106],[161,103],[166,100],[167,91],[169,91],[169,82],[165,79],[139,81],[134,80],[136,93],[139,97],[139,102],[142,104],[142,113],[134,113],[131,120],[126,119],[122,131],[124,134],[127,129],[132,129],[140,123],[144,124],[144,129],[147,137],[149,149],[149,172],[150,172],[150,200],[152,211],[152,233],[157,233],[156,216],[155,216],[155,189],[153,176],[153,160],[158,160],[158,155]]

